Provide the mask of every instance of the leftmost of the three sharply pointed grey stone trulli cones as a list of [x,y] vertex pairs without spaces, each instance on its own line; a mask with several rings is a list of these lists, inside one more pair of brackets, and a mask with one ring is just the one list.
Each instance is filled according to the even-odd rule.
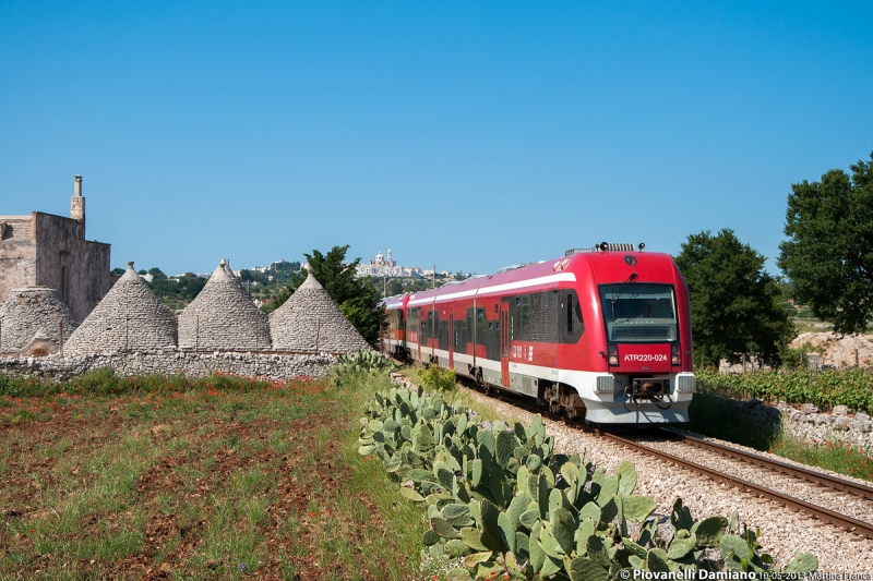
[[128,263],[128,270],[70,337],[65,353],[176,348],[176,314]]

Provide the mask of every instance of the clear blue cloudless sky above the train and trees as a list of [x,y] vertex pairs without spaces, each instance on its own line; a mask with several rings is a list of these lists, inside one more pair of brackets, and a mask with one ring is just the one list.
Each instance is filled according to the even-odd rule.
[[732,228],[873,149],[873,3],[0,2],[0,214],[168,274],[489,273]]

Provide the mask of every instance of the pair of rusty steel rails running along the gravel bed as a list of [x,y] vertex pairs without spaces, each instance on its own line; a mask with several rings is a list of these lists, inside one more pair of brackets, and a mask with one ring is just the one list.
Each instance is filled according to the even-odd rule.
[[[469,386],[468,386],[469,387]],[[710,479],[715,482],[723,483],[728,486],[732,486],[739,488],[742,492],[752,494],[760,498],[765,498],[774,504],[779,506],[784,506],[790,510],[798,511],[805,513],[812,518],[815,518],[824,523],[829,523],[834,526],[842,529],[845,531],[849,531],[851,533],[857,534],[863,538],[873,540],[873,523],[861,521],[849,517],[847,515],[841,515],[839,512],[829,510],[827,508],[813,505],[805,500],[801,500],[800,498],[794,498],[790,495],[784,494],[778,491],[774,491],[773,488],[768,488],[766,486],[762,486],[754,482],[750,482],[732,474],[727,474],[725,472],[719,472],[711,468],[705,467],[703,464],[692,462],[684,458],[680,458],[678,456],[665,452],[662,450],[658,450],[651,446],[647,446],[645,444],[641,444],[634,441],[632,439],[627,439],[625,437],[619,436],[610,431],[590,426],[584,424],[582,422],[569,420],[564,415],[553,414],[539,408],[537,406],[533,406],[530,402],[526,401],[525,399],[517,398],[513,394],[501,391],[500,397],[504,400],[511,401],[513,404],[527,410],[531,413],[540,413],[545,417],[548,417],[555,422],[562,422],[566,426],[582,429],[595,436],[611,440],[615,444],[619,444],[625,448],[631,450],[644,453],[649,457],[657,458],[665,462],[671,463],[673,465],[678,465],[701,474],[707,479]],[[695,438],[694,436],[689,436],[686,434],[681,434],[673,429],[669,428],[661,428],[665,435],[669,436],[671,439],[675,441],[682,441],[690,446],[694,446],[696,448],[701,448],[710,452],[715,452],[721,456],[726,456],[729,458],[733,458],[736,460],[740,460],[753,465],[757,465],[761,468],[766,468],[774,472],[778,472],[781,474],[786,474],[799,480],[808,481],[811,483],[815,483],[821,486],[825,486],[828,488],[833,488],[839,491],[841,493],[851,494],[854,496],[859,496],[861,498],[871,499],[873,500],[873,487],[864,486],[862,484],[857,484],[851,481],[837,479],[834,476],[829,476],[827,474],[822,474],[820,472],[815,472],[813,470],[796,467],[793,464],[789,464],[787,462],[780,462],[778,460],[772,460],[769,458],[765,458],[763,456],[757,456],[754,453],[745,452],[743,450],[738,450],[736,448],[730,448],[728,446],[722,446],[720,444],[715,444],[711,441],[706,441],[701,438]]]

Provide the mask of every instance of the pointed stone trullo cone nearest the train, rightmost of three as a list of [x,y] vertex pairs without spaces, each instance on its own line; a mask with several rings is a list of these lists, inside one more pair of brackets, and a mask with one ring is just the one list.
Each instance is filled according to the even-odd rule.
[[277,351],[349,353],[369,347],[312,273],[270,315],[270,332]]

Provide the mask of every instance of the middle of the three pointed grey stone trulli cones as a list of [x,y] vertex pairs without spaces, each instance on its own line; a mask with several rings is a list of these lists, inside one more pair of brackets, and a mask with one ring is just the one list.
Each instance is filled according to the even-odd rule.
[[179,314],[182,349],[270,349],[270,322],[225,265],[218,265],[196,299]]

